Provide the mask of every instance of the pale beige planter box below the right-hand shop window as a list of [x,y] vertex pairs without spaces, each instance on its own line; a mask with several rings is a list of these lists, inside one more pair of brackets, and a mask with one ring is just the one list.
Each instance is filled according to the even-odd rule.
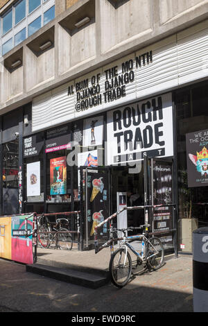
[[192,252],[192,233],[198,228],[198,218],[180,218],[179,227],[179,250]]

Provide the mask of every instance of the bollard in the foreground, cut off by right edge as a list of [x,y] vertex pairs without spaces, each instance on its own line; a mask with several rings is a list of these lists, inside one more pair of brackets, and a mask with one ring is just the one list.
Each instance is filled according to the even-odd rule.
[[208,228],[193,231],[193,311],[208,312]]

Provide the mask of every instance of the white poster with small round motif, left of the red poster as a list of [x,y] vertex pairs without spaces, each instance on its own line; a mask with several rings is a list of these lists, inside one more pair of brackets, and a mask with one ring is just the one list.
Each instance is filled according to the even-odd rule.
[[27,164],[27,196],[40,196],[40,162]]

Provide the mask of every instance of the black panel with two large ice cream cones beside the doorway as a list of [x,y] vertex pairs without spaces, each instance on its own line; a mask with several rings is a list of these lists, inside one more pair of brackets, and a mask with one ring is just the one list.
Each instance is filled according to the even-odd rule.
[[[87,171],[87,230],[88,239],[94,239],[94,228],[109,216],[107,173]],[[98,239],[108,239],[107,223],[98,229]]]

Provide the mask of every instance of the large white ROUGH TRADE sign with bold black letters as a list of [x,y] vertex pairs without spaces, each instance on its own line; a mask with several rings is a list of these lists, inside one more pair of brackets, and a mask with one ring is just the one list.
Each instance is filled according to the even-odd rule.
[[171,93],[107,113],[107,164],[173,155]]

